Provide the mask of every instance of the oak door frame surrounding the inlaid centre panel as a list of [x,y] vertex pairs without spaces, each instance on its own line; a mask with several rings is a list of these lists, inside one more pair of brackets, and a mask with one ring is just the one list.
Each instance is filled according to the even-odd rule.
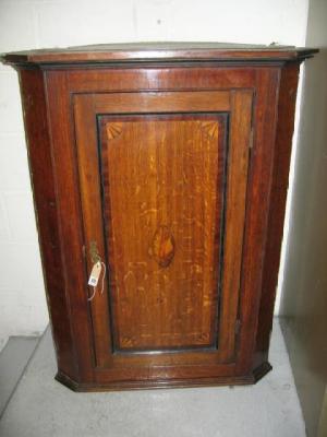
[[[101,223],[100,180],[98,175],[97,115],[229,113],[229,157],[227,174],[226,234],[223,244],[222,297],[219,318],[219,347],[216,351],[183,351],[175,354],[117,355],[110,352],[111,338],[107,294],[92,300],[90,318],[95,342],[95,366],[117,369],[129,366],[215,366],[235,362],[235,323],[241,276],[241,258],[245,220],[249,143],[251,137],[252,90],[99,93],[77,94],[73,98],[76,154],[81,181],[87,271],[90,241],[96,240],[101,259],[106,259]],[[92,206],[90,206],[92,205]],[[108,290],[107,277],[105,290]],[[216,369],[217,370],[217,369]],[[113,371],[113,370],[112,370]],[[182,373],[182,369],[180,369]],[[196,370],[194,369],[196,373]],[[142,370],[140,370],[142,373]],[[157,377],[155,370],[154,377]]]

